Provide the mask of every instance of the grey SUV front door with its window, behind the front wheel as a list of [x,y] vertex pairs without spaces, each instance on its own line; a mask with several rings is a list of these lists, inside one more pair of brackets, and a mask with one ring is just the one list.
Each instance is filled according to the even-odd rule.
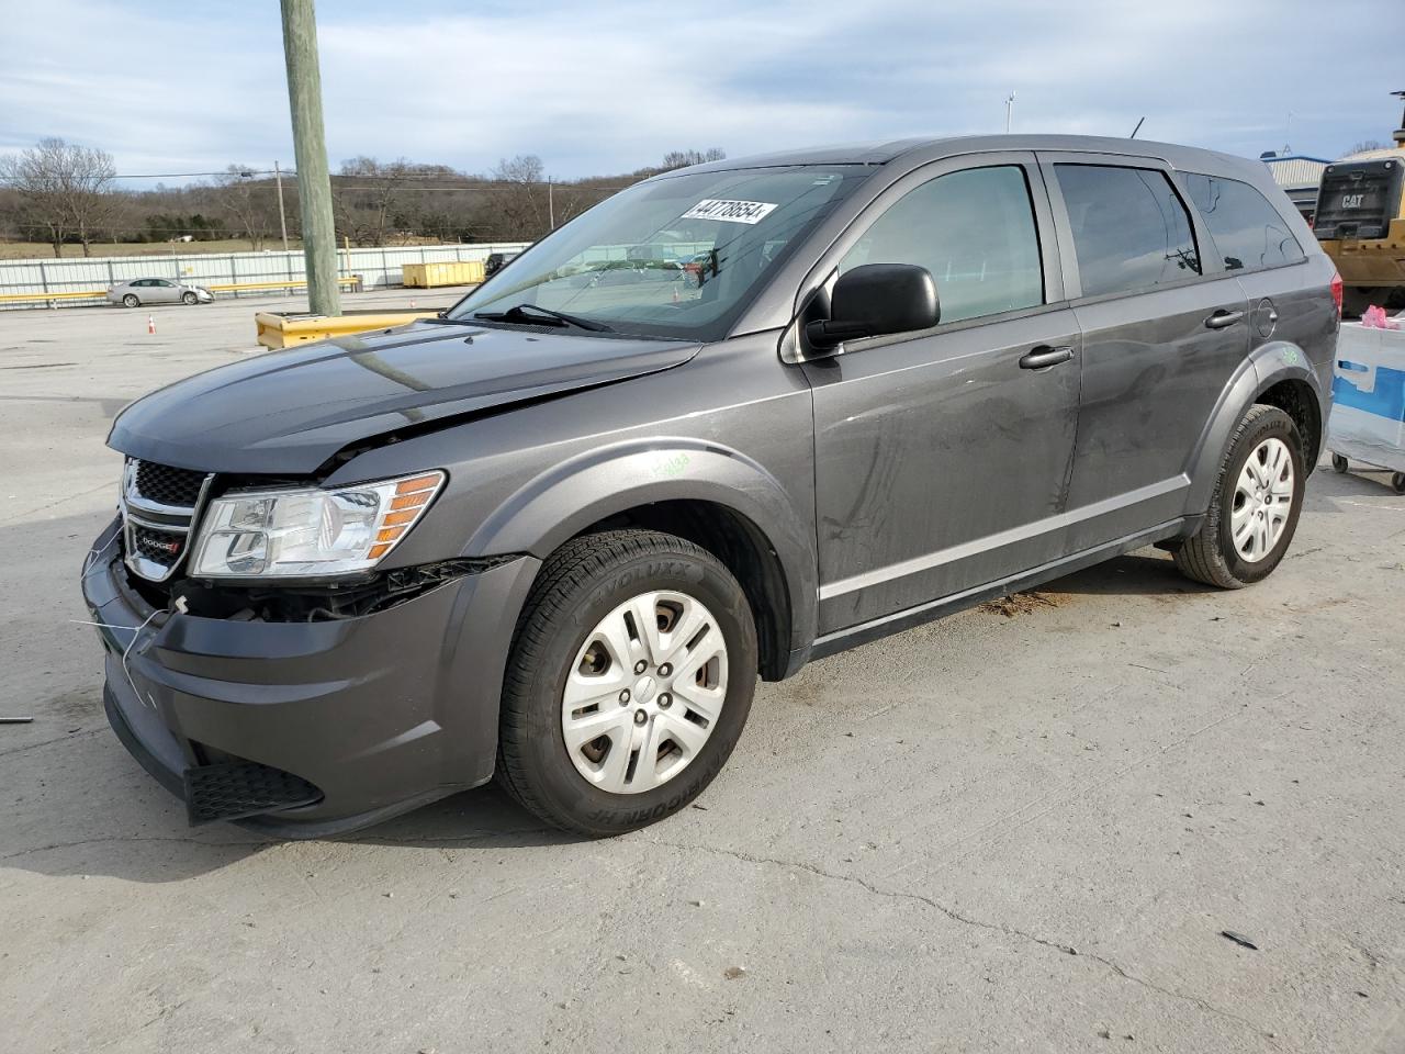
[[[917,170],[833,250],[926,267],[941,323],[804,365],[815,398],[821,632],[1058,558],[1079,332],[1030,155]],[[828,264],[826,264],[828,266]]]

